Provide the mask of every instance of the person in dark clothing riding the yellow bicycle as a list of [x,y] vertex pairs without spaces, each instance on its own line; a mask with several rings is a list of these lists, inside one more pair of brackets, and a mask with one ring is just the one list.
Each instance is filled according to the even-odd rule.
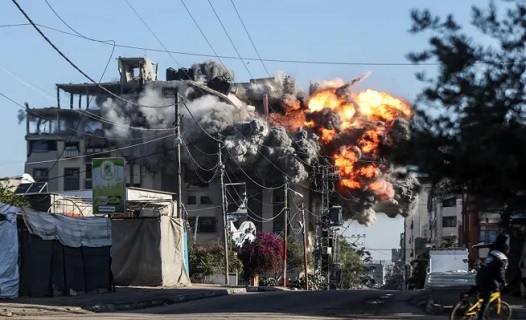
[[476,281],[480,298],[484,301],[480,308],[478,319],[482,320],[489,306],[492,292],[506,286],[506,268],[508,267],[509,246],[507,237],[500,234],[490,246],[488,257],[484,259],[477,272]]

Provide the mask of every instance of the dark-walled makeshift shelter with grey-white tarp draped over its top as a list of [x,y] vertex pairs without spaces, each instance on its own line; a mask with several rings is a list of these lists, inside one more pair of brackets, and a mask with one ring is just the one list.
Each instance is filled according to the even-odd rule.
[[20,296],[107,292],[111,222],[22,209]]

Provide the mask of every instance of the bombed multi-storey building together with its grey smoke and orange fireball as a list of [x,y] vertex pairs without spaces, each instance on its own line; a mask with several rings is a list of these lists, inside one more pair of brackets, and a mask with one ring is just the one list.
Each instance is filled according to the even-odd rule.
[[[25,172],[47,181],[48,191],[90,189],[92,158],[122,156],[129,186],[176,192],[175,143],[181,143],[184,212],[198,224],[201,241],[215,241],[221,231],[219,154],[229,207],[245,203],[259,230],[283,229],[285,180],[302,194],[290,201],[291,226],[298,226],[294,213],[302,203],[315,228],[313,217],[327,201],[320,166],[337,177],[326,191],[344,219],[372,224],[376,211],[414,211],[418,182],[389,159],[408,138],[411,108],[383,92],[353,92],[365,77],[303,92],[281,75],[236,83],[231,70],[213,61],[169,68],[162,81],[147,58],[119,58],[118,65],[119,81],[57,84],[56,106],[21,112]],[[178,93],[180,137],[170,90]]]

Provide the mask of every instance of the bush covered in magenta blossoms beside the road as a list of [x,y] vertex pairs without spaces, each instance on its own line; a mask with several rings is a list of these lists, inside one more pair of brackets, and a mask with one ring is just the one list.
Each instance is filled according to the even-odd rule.
[[253,242],[246,241],[238,251],[245,279],[277,271],[282,265],[283,244],[272,233],[261,232]]

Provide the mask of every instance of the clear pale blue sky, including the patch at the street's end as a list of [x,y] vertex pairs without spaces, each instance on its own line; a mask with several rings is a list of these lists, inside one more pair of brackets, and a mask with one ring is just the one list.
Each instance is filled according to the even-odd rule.
[[[168,67],[189,67],[210,59],[201,55],[238,57],[207,0],[128,0],[155,36],[135,15],[126,0],[66,1],[48,0],[60,17],[76,32],[98,40],[113,40],[118,45],[111,56],[109,43],[97,43],[80,37],[42,28],[49,39],[76,65],[94,79],[118,78],[116,58],[147,56],[159,63],[164,79]],[[73,33],[43,0],[18,0],[20,6],[39,25]],[[257,58],[230,0],[210,1],[228,31],[241,57]],[[308,89],[309,82],[342,78],[353,79],[365,72],[372,75],[362,88],[387,91],[410,102],[422,86],[417,71],[431,74],[434,66],[378,65],[408,64],[406,55],[426,47],[426,35],[407,32],[411,26],[410,10],[426,6],[442,16],[454,13],[463,25],[470,21],[470,7],[483,1],[469,0],[233,0],[245,26],[270,74],[285,72]],[[201,34],[185,4],[199,25]],[[87,80],[72,68],[31,26],[12,1],[0,2],[0,93],[30,107],[56,106],[56,83],[82,83]],[[468,28],[468,32],[471,32]],[[171,56],[163,46],[177,51]],[[210,46],[213,48],[210,48]],[[152,50],[153,49],[153,50]],[[185,53],[185,54],[181,54]],[[110,59],[108,70],[103,74]],[[311,63],[291,63],[291,60]],[[321,64],[320,61],[347,64]],[[236,73],[237,81],[266,77],[263,64],[256,60],[222,58]],[[69,100],[68,100],[69,101]],[[18,124],[19,106],[0,96],[0,177],[19,176],[26,158],[25,125]],[[383,248],[398,243],[403,220],[379,217],[367,232],[372,247]],[[396,227],[394,227],[396,226]],[[389,239],[389,241],[387,241]],[[385,259],[378,254],[375,259]]]

